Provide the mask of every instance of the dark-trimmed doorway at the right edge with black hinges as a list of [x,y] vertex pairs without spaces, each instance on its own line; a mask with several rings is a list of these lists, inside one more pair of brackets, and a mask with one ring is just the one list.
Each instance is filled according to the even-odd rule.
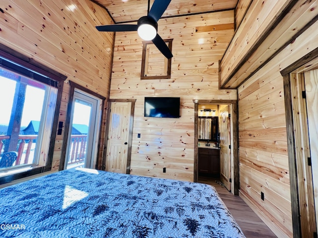
[[318,49],[283,69],[294,237],[317,237]]

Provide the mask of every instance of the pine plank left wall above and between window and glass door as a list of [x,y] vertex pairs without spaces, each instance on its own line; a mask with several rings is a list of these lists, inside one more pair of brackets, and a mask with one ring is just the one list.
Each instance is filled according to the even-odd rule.
[[[0,8],[0,43],[68,77],[59,121],[65,124],[69,79],[108,97],[114,34],[95,29],[112,23],[105,9],[90,0],[1,0]],[[63,133],[52,170],[59,168]]]

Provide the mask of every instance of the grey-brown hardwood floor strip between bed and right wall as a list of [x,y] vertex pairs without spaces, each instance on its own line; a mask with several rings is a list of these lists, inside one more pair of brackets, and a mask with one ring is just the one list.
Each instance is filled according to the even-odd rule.
[[214,186],[246,238],[276,238],[275,234],[239,197],[229,192],[218,179],[199,177],[199,182]]

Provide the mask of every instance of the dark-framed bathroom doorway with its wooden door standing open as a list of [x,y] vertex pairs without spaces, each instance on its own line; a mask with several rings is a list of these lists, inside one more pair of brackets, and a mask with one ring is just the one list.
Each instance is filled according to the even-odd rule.
[[[199,176],[199,114],[200,105],[216,105],[219,117],[219,135],[212,146],[220,147],[220,179],[235,195],[239,195],[239,155],[238,155],[238,106],[236,100],[194,100],[194,178]],[[220,111],[221,109],[221,111]],[[200,140],[201,141],[201,140]],[[204,143],[203,143],[204,144]],[[207,143],[208,145],[209,143]],[[202,150],[202,149],[200,149]]]

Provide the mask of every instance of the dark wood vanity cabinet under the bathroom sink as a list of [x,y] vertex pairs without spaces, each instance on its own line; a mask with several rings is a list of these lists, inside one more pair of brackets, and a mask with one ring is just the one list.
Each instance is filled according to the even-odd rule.
[[199,175],[220,178],[220,150],[199,148]]

